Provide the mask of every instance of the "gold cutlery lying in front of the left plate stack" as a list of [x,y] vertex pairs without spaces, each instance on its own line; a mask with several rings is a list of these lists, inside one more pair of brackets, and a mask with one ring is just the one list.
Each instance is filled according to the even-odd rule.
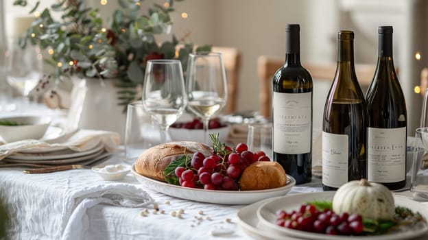
[[95,165],[96,163],[102,163],[108,160],[110,155],[112,155],[112,153],[106,152],[104,154],[97,156],[96,158],[93,158],[91,160],[88,160],[80,164],[62,165],[62,166],[55,166],[55,167],[42,167],[38,169],[26,169],[26,170],[23,170],[23,172],[29,173],[29,174],[36,174],[36,173],[53,173],[55,171],[66,171],[71,169],[89,169],[91,168],[92,165]]

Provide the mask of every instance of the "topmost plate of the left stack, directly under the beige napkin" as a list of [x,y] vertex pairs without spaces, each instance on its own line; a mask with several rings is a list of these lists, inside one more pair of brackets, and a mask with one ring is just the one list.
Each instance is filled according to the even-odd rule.
[[95,152],[99,152],[104,148],[103,144],[99,144],[93,149],[87,151],[75,152],[71,149],[56,150],[53,152],[42,152],[37,154],[27,154],[27,153],[16,153],[8,156],[9,159],[16,160],[56,160],[56,159],[65,159],[65,158],[77,158],[80,156],[87,156]]

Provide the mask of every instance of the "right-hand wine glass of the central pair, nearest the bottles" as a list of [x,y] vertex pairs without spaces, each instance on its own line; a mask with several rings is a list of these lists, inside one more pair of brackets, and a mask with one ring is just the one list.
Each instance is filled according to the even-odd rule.
[[202,119],[206,143],[209,119],[221,110],[227,101],[226,71],[222,53],[190,53],[186,85],[188,108]]

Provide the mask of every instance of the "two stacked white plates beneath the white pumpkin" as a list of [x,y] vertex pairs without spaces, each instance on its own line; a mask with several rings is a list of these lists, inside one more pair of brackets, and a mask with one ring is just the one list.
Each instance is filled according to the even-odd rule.
[[[426,239],[428,224],[412,226],[412,230],[401,228],[398,232],[376,236],[332,236],[313,232],[292,230],[277,226],[275,213],[278,210],[290,212],[297,210],[301,204],[313,200],[332,200],[335,192],[302,193],[287,195],[285,197],[273,197],[241,208],[238,212],[238,224],[244,232],[255,239],[412,239],[420,237]],[[409,200],[404,195],[394,195],[396,206],[404,206],[412,211],[417,211],[428,219],[426,205]]]

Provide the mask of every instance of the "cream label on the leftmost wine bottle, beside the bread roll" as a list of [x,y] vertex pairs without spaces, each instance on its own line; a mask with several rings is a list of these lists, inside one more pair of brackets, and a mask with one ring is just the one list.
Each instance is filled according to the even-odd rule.
[[311,152],[312,93],[276,93],[272,106],[274,152],[306,154]]

